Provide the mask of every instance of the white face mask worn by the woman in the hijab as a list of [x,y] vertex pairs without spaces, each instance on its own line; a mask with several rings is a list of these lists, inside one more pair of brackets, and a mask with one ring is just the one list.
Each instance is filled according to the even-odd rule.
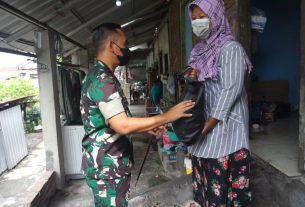
[[193,32],[197,37],[201,39],[207,39],[209,37],[211,32],[209,18],[193,20],[192,27],[193,27]]

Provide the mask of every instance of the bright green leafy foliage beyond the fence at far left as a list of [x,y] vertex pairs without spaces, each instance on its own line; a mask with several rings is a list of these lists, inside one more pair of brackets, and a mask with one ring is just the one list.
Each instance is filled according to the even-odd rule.
[[5,82],[0,81],[0,101],[38,95],[36,88],[30,81],[14,78]]

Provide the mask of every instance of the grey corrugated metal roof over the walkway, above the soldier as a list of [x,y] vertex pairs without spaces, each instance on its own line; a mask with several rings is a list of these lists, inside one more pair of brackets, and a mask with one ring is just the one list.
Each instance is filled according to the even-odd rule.
[[[9,4],[82,45],[90,42],[91,30],[103,22],[124,24],[136,19],[126,26],[131,46],[153,39],[168,2],[122,0],[117,7],[115,0],[0,0],[0,4]],[[35,29],[37,26],[0,9],[0,47],[33,53]],[[63,42],[64,52],[76,47]]]

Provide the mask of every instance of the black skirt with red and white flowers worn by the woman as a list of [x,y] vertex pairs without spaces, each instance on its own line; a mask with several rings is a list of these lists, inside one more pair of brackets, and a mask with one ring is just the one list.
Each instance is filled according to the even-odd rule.
[[194,199],[202,207],[250,207],[250,153],[219,159],[192,157]]

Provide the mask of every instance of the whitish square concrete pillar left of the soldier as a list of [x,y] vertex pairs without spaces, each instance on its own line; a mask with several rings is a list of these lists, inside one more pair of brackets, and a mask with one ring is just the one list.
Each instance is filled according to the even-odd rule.
[[60,124],[57,64],[54,33],[52,31],[41,31],[41,48],[36,48],[36,54],[38,63],[47,66],[46,70],[38,69],[46,169],[47,171],[55,171],[56,186],[58,189],[62,189],[65,184],[64,157]]

